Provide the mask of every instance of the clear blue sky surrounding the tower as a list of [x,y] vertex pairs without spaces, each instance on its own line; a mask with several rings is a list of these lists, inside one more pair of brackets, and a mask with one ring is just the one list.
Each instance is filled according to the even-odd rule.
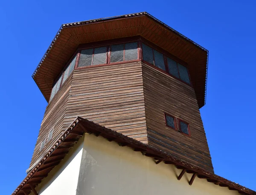
[[47,102],[32,73],[62,23],[147,11],[209,50],[201,116],[215,174],[256,190],[256,1],[1,1],[0,193],[26,176]]

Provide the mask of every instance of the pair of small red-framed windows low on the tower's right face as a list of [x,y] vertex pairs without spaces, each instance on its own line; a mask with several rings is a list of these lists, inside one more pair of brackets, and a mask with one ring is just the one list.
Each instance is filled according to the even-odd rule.
[[[190,136],[189,123],[186,123],[185,121],[175,118],[174,116],[166,113],[164,114],[164,116],[166,126]],[[176,121],[178,121],[178,126],[176,126]]]

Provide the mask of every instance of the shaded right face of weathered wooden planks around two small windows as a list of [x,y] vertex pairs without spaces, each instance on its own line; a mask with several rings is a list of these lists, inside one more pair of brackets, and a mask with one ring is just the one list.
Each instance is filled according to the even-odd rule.
[[[213,172],[194,89],[146,64],[142,69],[148,144]],[[164,112],[189,123],[191,137],[167,127]]]

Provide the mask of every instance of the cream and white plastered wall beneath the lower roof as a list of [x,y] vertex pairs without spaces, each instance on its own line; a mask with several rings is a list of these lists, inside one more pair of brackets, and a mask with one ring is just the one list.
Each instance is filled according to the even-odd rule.
[[[79,169],[80,168],[80,169]],[[39,195],[239,195],[163,162],[85,134],[64,160],[38,186]]]

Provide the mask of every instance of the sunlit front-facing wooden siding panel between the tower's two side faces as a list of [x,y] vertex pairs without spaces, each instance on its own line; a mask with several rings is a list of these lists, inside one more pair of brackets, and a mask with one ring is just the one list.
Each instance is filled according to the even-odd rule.
[[77,116],[147,143],[141,62],[76,69],[64,127]]

